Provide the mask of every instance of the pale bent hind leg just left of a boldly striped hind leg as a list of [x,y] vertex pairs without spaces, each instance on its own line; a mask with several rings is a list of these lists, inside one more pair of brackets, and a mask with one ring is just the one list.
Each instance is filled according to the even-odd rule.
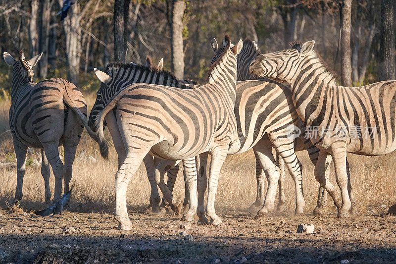
[[280,177],[280,169],[275,165],[275,159],[272,155],[271,142],[259,141],[256,146],[253,147],[256,160],[258,160],[264,168],[265,176],[268,181],[267,193],[265,200],[260,211],[257,212],[256,218],[265,217],[269,212],[274,211],[274,203],[276,197],[276,187]]

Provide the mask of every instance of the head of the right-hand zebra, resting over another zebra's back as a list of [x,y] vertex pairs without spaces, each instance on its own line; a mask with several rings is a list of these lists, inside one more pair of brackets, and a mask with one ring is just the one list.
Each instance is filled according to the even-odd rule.
[[248,71],[257,77],[290,81],[301,66],[301,62],[314,53],[314,44],[313,40],[304,44],[292,43],[290,49],[261,54],[250,63]]

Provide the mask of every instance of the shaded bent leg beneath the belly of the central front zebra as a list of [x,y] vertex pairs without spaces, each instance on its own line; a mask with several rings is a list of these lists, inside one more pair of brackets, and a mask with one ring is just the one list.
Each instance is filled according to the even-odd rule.
[[161,159],[161,161],[154,170],[155,183],[158,185],[166,201],[169,203],[170,208],[172,209],[172,211],[175,212],[176,216],[179,216],[183,204],[173,201],[173,194],[166,186],[164,176],[169,169],[173,168],[179,162],[180,160]]

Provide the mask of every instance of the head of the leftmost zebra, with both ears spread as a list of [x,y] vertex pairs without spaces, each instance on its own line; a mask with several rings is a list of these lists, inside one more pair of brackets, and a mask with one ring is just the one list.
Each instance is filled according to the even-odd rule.
[[14,59],[14,57],[11,56],[10,53],[3,53],[5,63],[12,66],[14,73],[16,73],[15,75],[18,75],[14,77],[26,79],[30,82],[33,81],[34,75],[32,68],[37,64],[37,62],[39,62],[42,55],[43,53],[40,53],[31,58],[30,60],[26,60],[25,55],[21,51],[19,54],[19,61],[17,61],[16,59]]

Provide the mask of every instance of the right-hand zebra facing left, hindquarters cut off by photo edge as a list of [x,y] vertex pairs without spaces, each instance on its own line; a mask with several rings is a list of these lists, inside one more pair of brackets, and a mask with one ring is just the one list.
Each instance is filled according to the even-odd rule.
[[[360,87],[336,85],[334,74],[313,49],[315,41],[295,42],[290,49],[262,54],[250,65],[257,76],[285,80],[290,85],[297,113],[308,129],[311,142],[320,149],[315,178],[333,198],[338,217],[348,217],[351,201],[348,191],[348,153],[376,156],[396,149],[396,81],[383,81]],[[335,187],[323,177],[335,163]]]

